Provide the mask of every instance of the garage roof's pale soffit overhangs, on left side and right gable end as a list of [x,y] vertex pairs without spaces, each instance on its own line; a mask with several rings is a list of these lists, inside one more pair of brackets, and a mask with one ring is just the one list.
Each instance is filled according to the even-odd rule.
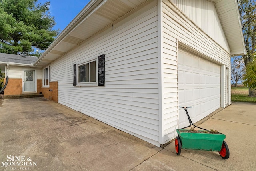
[[[34,64],[44,67],[147,0],[91,0]],[[237,0],[215,3],[231,55],[246,53]]]

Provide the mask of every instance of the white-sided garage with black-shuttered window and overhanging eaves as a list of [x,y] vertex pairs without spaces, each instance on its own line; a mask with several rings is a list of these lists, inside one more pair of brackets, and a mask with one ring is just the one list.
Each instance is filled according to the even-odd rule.
[[[58,103],[156,146],[231,103],[245,54],[236,0],[91,0],[34,67]],[[42,74],[42,80],[45,80]]]

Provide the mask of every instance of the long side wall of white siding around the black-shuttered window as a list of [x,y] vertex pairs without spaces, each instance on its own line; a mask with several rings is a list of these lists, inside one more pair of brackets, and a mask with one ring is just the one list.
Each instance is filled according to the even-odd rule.
[[[58,102],[159,146],[157,14],[146,2],[53,62]],[[73,86],[73,64],[102,54],[105,86]]]

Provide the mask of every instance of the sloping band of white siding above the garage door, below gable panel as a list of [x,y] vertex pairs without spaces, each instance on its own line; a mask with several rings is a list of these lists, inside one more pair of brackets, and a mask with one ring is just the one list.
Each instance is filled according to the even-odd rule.
[[170,41],[173,41],[173,38],[175,38],[175,40],[179,40],[213,60],[217,60],[222,64],[230,64],[230,53],[216,44],[202,30],[198,29],[173,4],[167,0],[164,0],[164,2],[166,2],[163,8],[164,33],[171,37],[168,38]]

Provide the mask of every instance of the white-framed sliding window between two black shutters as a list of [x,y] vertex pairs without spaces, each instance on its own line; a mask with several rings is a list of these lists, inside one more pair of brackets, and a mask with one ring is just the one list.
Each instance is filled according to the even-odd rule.
[[79,65],[77,69],[78,83],[96,82],[96,60]]

